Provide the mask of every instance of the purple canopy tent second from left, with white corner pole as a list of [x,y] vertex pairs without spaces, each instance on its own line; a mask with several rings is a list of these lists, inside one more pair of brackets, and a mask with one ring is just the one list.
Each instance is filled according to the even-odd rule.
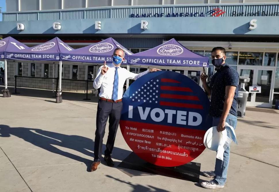
[[[62,62],[60,60],[60,53],[74,50],[72,47],[68,46],[58,37],[49,40],[43,44],[39,44],[34,47],[23,49],[20,51],[8,51],[5,52],[5,58],[11,60],[21,60],[21,61],[35,61],[35,62],[54,62],[59,61],[59,91],[61,92],[61,76],[62,76]],[[54,67],[53,67],[54,70]],[[53,72],[54,75],[54,72]],[[54,80],[53,80],[54,81]]]

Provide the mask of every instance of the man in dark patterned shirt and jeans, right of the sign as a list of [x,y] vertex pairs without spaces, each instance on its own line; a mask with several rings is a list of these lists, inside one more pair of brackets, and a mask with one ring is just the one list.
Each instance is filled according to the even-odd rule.
[[[227,122],[235,129],[239,75],[234,68],[226,63],[226,50],[223,47],[213,48],[211,58],[216,73],[211,79],[210,86],[207,85],[207,75],[205,73],[202,73],[200,79],[205,92],[211,96],[209,114],[213,117],[213,126],[217,126],[217,131],[220,132],[225,130]],[[225,150],[223,157],[223,161],[216,158],[215,171],[203,172],[206,177],[214,179],[202,182],[200,184],[202,187],[206,189],[224,187],[229,166],[230,146]]]

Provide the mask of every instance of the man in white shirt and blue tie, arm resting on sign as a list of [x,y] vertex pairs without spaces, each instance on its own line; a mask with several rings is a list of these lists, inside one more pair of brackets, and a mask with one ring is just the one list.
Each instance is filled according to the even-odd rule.
[[121,68],[120,64],[124,61],[125,52],[121,48],[116,48],[112,55],[112,63],[101,66],[98,70],[93,87],[100,88],[99,102],[96,117],[96,132],[94,146],[94,161],[91,165],[91,171],[95,171],[100,164],[102,158],[102,144],[105,134],[106,123],[109,118],[108,140],[104,159],[108,166],[114,166],[111,159],[112,149],[114,146],[116,132],[119,126],[119,121],[122,111],[122,95],[123,85],[126,79],[138,79],[143,75],[158,71],[159,69],[149,69],[143,73],[136,74]]

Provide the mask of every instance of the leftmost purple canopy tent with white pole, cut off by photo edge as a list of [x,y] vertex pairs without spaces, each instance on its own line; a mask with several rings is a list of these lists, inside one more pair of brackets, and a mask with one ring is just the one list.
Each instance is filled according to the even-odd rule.
[[7,60],[5,58],[5,53],[9,51],[20,51],[27,49],[28,46],[22,44],[21,42],[15,40],[12,37],[6,37],[0,40],[0,59],[4,59],[5,63],[5,90],[8,88],[7,83]]

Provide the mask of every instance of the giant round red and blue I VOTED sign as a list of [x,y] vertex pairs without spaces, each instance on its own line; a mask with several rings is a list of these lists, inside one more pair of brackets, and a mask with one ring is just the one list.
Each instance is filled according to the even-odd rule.
[[180,166],[198,157],[212,127],[209,99],[192,79],[172,71],[148,73],[123,95],[120,120],[128,146],[158,166]]

